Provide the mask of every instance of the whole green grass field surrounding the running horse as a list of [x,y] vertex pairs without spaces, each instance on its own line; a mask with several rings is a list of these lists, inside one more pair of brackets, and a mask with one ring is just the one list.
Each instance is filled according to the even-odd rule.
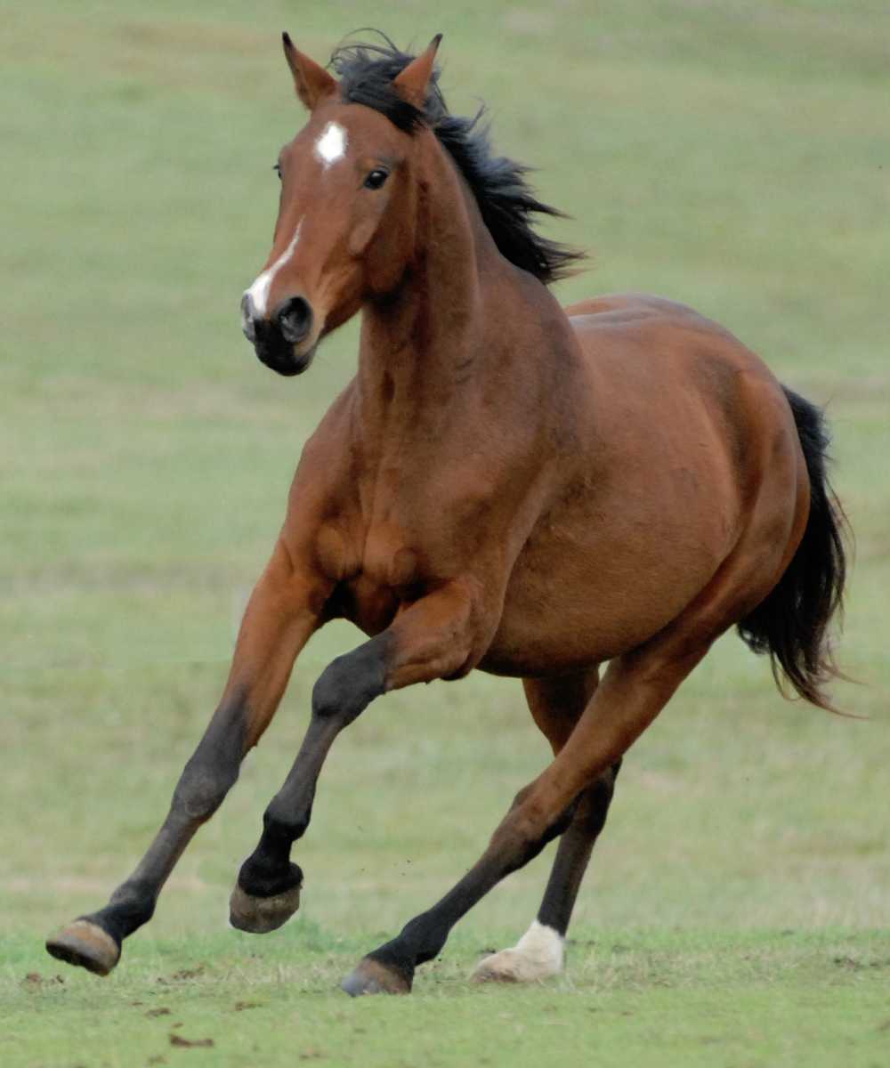
[[[0,1065],[890,1064],[890,7],[7,7]],[[354,367],[352,325],[307,376],[271,375],[238,300],[301,123],[278,34],[321,59],[368,25],[444,32],[452,109],[489,103],[499,146],[574,217],[551,232],[594,252],[566,301],[681,299],[828,405],[857,536],[841,659],[860,685],[836,695],[868,720],[783,704],[724,639],[626,761],[564,977],[466,983],[533,916],[548,850],[410,999],[350,1002],[341,975],[475,859],[546,748],[505,680],[379,701],[323,778],[302,911],[264,939],[228,930],[311,686],[358,640],[332,626],[118,971],[61,974],[43,940],[156,829],[301,442]]]

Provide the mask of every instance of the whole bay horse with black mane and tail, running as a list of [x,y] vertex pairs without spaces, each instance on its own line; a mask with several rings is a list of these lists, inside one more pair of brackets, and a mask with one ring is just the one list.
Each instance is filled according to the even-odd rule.
[[331,74],[284,34],[310,114],[279,156],[275,239],[243,328],[292,376],[360,312],[358,370],[306,444],[169,815],[109,904],[47,943],[97,974],[151,918],[329,619],[369,640],[315,684],[232,893],[235,927],[274,930],[297,910],[291,848],[325,757],[378,695],[475,668],[521,678],[553,751],[474,866],[363,958],[349,994],[409,991],[453,925],[557,836],[537,917],[474,974],[559,972],[624,753],[733,625],[777,680],[830,708],[845,556],[822,413],[689,308],[630,295],[562,309],[547,284],[578,254],[534,232],[557,213],[493,154],[479,115],[448,111],[439,40],[417,57],[346,45]]

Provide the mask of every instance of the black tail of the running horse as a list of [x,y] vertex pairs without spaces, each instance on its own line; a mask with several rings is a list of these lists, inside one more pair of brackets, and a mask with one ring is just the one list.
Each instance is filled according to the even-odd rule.
[[810,517],[803,537],[778,585],[738,624],[754,653],[768,653],[772,674],[819,708],[836,711],[823,686],[840,675],[828,628],[841,608],[846,579],[846,519],[825,473],[829,436],[818,408],[785,389],[810,475]]

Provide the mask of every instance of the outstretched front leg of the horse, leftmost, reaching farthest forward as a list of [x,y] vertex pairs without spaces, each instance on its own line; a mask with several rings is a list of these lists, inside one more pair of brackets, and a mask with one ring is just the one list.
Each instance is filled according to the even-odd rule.
[[243,758],[275,714],[294,660],[318,626],[326,596],[324,581],[298,570],[279,543],[245,613],[220,704],[176,784],[167,819],[109,904],[47,941],[53,957],[107,975],[123,940],[151,920],[183,850],[219,807]]

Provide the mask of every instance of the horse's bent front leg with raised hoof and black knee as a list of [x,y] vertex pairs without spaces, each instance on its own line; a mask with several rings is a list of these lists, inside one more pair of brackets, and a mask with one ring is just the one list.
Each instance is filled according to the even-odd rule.
[[294,766],[263,817],[263,833],[232,892],[231,922],[241,930],[275,930],[296,909],[291,847],[302,837],[325,758],[340,732],[388,690],[462,672],[475,642],[469,584],[455,581],[402,611],[387,630],[324,671]]

